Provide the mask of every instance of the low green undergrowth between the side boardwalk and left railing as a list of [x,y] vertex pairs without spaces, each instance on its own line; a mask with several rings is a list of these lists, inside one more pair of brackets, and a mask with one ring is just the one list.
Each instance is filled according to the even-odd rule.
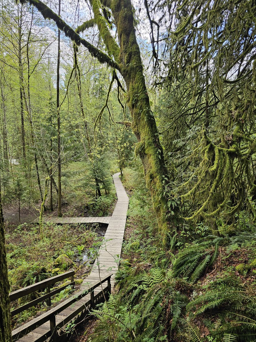
[[[8,262],[8,276],[11,291],[29,286],[35,282],[61,274],[74,269],[75,282],[79,285],[82,278],[87,276],[91,264],[95,259],[95,253],[102,237],[98,228],[87,227],[85,224],[55,225],[44,224],[44,236],[40,238],[39,227],[32,224],[21,224],[16,228],[7,227],[5,240]],[[88,256],[84,263],[83,255]],[[66,279],[69,281],[69,279]],[[66,281],[64,280],[64,282]],[[63,281],[55,284],[55,288],[62,286]],[[66,298],[72,289],[67,287],[55,295],[52,303]],[[11,310],[28,301],[45,294],[34,292],[11,303]],[[17,315],[13,319],[15,323],[21,323],[40,310],[46,310],[45,302],[32,307]]]

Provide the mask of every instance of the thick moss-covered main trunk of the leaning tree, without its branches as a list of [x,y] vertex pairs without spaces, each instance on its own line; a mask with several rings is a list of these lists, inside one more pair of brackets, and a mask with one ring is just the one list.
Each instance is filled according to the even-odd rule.
[[135,152],[143,163],[146,185],[151,192],[159,229],[165,233],[168,229],[168,205],[164,193],[168,172],[156,121],[150,108],[140,49],[133,25],[131,1],[115,1],[112,11],[120,44],[120,72],[126,83],[127,105],[132,116],[131,128],[138,139]]

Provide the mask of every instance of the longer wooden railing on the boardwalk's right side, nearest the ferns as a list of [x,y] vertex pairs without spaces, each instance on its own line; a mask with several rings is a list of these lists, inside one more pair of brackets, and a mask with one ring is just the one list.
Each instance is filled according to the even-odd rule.
[[[13,341],[16,341],[24,337],[29,332],[40,327],[46,322],[49,322],[49,330],[44,332],[41,337],[35,339],[34,341],[41,342],[41,341],[45,341],[47,338],[50,338],[51,341],[56,341],[58,337],[57,331],[60,328],[64,327],[67,323],[69,323],[73,318],[75,318],[81,312],[84,312],[85,314],[89,314],[90,309],[94,308],[95,305],[97,305],[98,303],[101,303],[105,299],[109,298],[109,294],[111,293],[111,282],[110,282],[111,276],[112,274],[105,276],[104,278],[101,279],[101,281],[97,281],[93,285],[88,286],[87,289],[84,289],[82,291],[77,292],[76,294],[73,294],[69,299],[67,299],[63,303],[60,303],[56,307],[32,319],[28,323],[25,323],[21,327],[13,330],[12,331]],[[106,287],[102,286],[104,282],[107,282]],[[94,290],[99,286],[102,286],[102,288],[99,291],[99,293],[95,295]],[[82,299],[88,293],[90,293],[90,297],[86,301],[84,300],[82,301]],[[74,305],[74,303],[76,302],[78,303],[78,305]],[[56,325],[56,315],[58,315],[59,313],[61,313],[63,310],[65,310],[68,307],[71,307],[70,313]]]

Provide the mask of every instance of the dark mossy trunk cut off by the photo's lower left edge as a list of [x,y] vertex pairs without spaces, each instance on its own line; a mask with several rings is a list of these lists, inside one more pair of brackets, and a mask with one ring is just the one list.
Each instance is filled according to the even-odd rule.
[[0,187],[0,341],[11,342],[11,315],[9,300],[9,281],[4,241],[3,211]]

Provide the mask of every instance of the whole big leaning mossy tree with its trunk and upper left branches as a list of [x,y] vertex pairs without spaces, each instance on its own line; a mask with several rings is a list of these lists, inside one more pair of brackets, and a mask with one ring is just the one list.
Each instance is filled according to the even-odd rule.
[[[73,30],[42,1],[21,0],[21,2],[29,2],[42,13],[45,19],[52,19],[57,27],[74,42],[75,50],[79,45],[83,45],[99,62],[106,63],[113,68],[113,79],[116,82],[120,84],[118,75],[123,77],[127,91],[127,106],[132,117],[131,127],[138,139],[135,153],[142,160],[146,185],[151,192],[159,231],[164,234],[169,229],[170,203],[173,209],[175,201],[170,200],[167,191],[168,172],[146,89],[131,1],[90,0],[94,18],[84,22],[76,30]],[[110,22],[115,25],[118,42],[111,34]],[[81,32],[93,26],[98,27],[107,54],[81,37]],[[76,61],[76,58],[74,60]],[[175,210],[171,212],[174,213]]]

